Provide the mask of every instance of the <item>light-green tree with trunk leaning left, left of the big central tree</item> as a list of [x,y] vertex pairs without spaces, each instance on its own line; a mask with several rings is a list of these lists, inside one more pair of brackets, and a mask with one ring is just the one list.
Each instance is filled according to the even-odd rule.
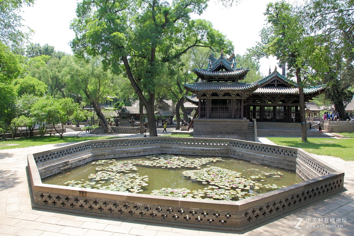
[[117,77],[110,71],[105,71],[100,58],[93,58],[87,63],[83,59],[74,56],[65,57],[65,82],[68,89],[77,95],[81,95],[86,104],[91,104],[95,110],[102,128],[107,134],[114,131],[108,125],[107,119],[102,113],[102,104],[113,95],[114,83],[118,83]]

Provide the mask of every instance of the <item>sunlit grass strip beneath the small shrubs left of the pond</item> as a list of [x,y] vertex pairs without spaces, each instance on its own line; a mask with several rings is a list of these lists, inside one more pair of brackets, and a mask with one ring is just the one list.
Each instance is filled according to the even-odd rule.
[[[43,136],[34,138],[15,138],[7,139],[5,141],[0,142],[0,149],[10,149],[10,148],[21,148],[21,147],[32,147],[32,146],[40,146],[45,144],[56,144],[56,143],[71,143],[71,142],[82,142],[87,140],[97,140],[97,139],[110,139],[117,138],[112,136],[92,136],[92,137],[80,137],[76,138],[76,136],[63,136],[63,139],[60,139],[60,136]],[[8,144],[18,144],[14,146],[7,146]]]

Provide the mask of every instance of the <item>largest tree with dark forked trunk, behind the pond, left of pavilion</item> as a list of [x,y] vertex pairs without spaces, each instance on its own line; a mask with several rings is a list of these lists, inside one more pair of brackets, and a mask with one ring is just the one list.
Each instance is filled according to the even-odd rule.
[[101,55],[114,73],[125,73],[147,111],[150,136],[157,136],[154,102],[164,67],[193,47],[228,49],[210,22],[190,19],[208,0],[83,0],[71,42],[77,54]]

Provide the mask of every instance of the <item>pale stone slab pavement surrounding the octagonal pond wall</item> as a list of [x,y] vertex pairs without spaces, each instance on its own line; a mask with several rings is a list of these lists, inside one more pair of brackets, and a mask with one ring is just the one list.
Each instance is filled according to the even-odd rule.
[[[174,128],[167,129],[168,133],[172,130]],[[71,133],[65,135],[76,135],[74,132]],[[158,129],[158,134],[162,134],[162,129]],[[116,136],[142,137],[143,135]],[[269,140],[259,138],[259,141],[268,142]],[[66,144],[0,150],[0,236],[354,235],[354,174],[352,172],[354,161],[318,156],[322,161],[346,173],[344,178],[346,190],[309,203],[250,229],[235,232],[141,223],[33,208],[26,172],[27,153],[36,153],[64,145]]]

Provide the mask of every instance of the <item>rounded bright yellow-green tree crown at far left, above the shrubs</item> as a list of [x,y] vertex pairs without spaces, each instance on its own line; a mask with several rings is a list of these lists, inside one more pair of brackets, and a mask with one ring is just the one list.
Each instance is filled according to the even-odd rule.
[[13,84],[15,85],[15,91],[18,96],[33,94],[34,96],[41,97],[48,91],[45,83],[31,76],[15,79]]

